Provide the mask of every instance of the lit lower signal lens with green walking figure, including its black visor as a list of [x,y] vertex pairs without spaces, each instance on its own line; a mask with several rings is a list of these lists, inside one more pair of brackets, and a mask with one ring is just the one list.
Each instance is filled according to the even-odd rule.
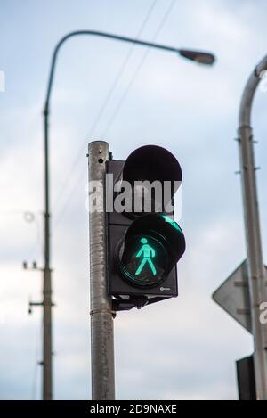
[[154,287],[164,282],[183,250],[182,230],[172,218],[144,215],[128,227],[117,250],[117,265],[127,282]]

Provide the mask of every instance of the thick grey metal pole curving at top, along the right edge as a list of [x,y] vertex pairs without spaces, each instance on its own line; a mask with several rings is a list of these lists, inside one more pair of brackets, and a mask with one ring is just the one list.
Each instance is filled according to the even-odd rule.
[[247,238],[248,283],[251,299],[252,331],[254,335],[256,396],[267,400],[267,327],[260,323],[260,305],[267,301],[266,275],[257,200],[253,133],[250,126],[251,108],[260,75],[267,70],[267,56],[248,78],[239,110],[239,157],[242,177],[244,216]]

